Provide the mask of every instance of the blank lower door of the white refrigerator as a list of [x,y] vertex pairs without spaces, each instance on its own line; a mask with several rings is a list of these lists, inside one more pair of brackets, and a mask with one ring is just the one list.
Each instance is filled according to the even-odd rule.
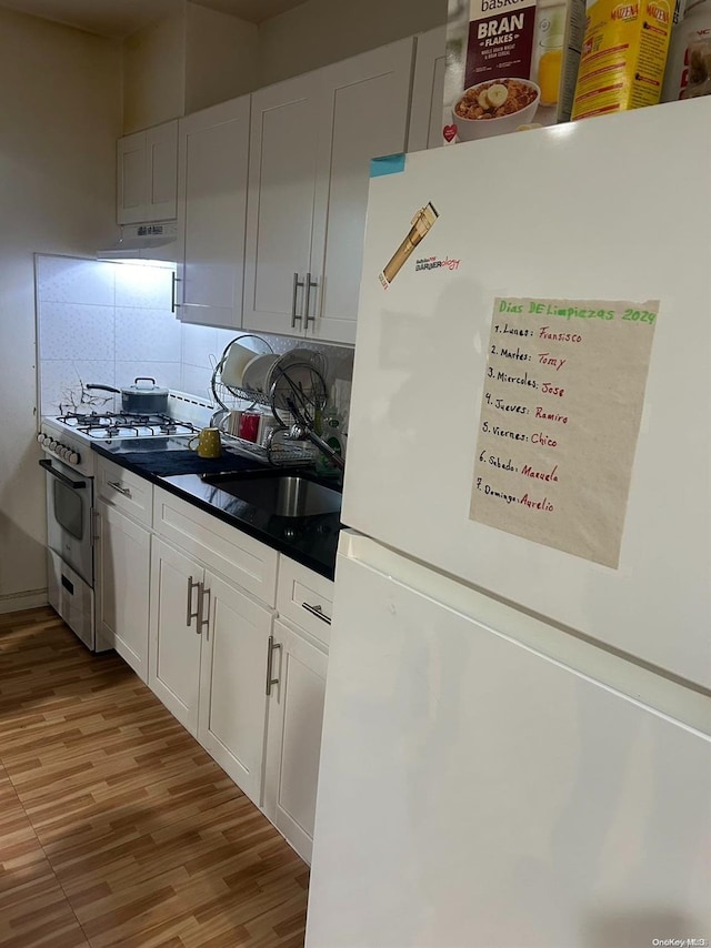
[[677,696],[685,722],[654,710],[490,624],[525,636],[520,614],[363,537],[346,547],[307,948],[708,937],[694,698]]

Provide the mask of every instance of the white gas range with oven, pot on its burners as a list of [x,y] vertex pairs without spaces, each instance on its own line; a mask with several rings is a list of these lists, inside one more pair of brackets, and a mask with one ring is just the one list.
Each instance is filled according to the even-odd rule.
[[[69,412],[43,417],[37,440],[46,457],[48,598],[92,652],[94,626],[94,492],[92,443],[186,438],[209,423],[212,406],[181,393],[168,399],[169,414]],[[157,444],[159,442],[157,441]]]

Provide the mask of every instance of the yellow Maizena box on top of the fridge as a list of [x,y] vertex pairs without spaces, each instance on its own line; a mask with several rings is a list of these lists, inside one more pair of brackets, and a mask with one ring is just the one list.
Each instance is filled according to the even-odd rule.
[[588,8],[572,118],[659,102],[673,0],[595,0]]

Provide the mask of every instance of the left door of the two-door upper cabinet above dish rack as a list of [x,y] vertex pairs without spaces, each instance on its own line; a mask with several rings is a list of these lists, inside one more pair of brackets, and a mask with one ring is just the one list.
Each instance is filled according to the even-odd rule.
[[252,95],[246,329],[303,333],[317,169],[320,70]]

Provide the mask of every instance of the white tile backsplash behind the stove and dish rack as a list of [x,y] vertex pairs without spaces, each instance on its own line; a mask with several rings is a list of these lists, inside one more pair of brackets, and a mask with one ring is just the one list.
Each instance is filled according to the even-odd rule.
[[[131,385],[138,376],[212,401],[210,379],[238,330],[181,323],[171,312],[172,269],[69,256],[36,256],[40,414],[84,406],[114,409],[108,392],[83,385]],[[263,335],[273,352],[320,351],[334,379],[350,381],[353,352]],[[244,340],[257,352],[258,340]]]

